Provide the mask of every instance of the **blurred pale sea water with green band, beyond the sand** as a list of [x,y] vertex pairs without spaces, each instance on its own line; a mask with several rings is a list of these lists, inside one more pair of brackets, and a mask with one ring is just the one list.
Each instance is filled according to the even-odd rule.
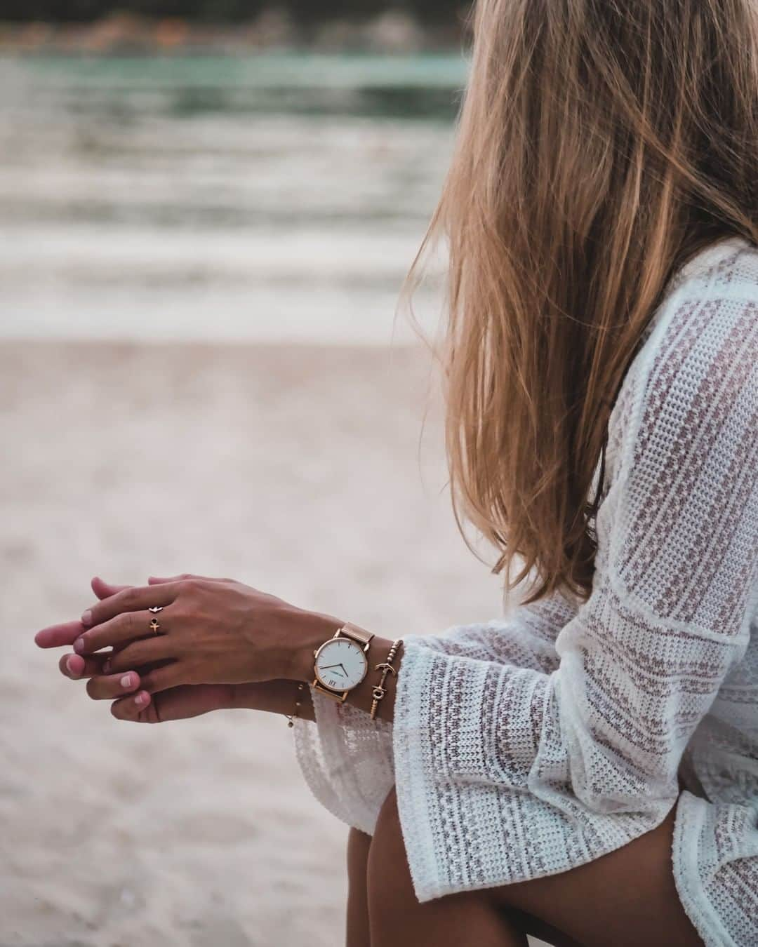
[[398,291],[465,76],[455,55],[0,60],[0,337],[412,338]]

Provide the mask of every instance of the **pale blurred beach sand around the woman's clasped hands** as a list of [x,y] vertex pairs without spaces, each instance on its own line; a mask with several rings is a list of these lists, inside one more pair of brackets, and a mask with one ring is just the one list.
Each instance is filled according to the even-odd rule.
[[343,942],[347,829],[282,718],[117,722],[32,635],[96,574],[232,576],[387,636],[499,615],[428,372],[421,347],[0,348],[3,947]]

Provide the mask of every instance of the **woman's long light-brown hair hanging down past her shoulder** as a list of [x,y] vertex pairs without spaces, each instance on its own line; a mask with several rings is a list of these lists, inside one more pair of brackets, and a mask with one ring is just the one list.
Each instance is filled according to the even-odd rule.
[[478,0],[473,28],[409,280],[442,238],[453,509],[496,546],[507,592],[532,575],[525,602],[584,600],[608,416],[641,334],[696,252],[758,243],[758,6]]

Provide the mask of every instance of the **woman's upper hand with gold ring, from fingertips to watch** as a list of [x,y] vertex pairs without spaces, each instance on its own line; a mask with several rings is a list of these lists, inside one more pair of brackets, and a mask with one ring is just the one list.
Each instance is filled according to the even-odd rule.
[[[41,647],[73,640],[77,654],[95,661],[111,681],[159,665],[140,680],[141,689],[156,693],[184,685],[303,680],[313,649],[341,624],[241,582],[177,577],[123,588],[87,609],[81,622],[54,625],[36,640]],[[108,647],[114,652],[100,664],[97,652]]]

